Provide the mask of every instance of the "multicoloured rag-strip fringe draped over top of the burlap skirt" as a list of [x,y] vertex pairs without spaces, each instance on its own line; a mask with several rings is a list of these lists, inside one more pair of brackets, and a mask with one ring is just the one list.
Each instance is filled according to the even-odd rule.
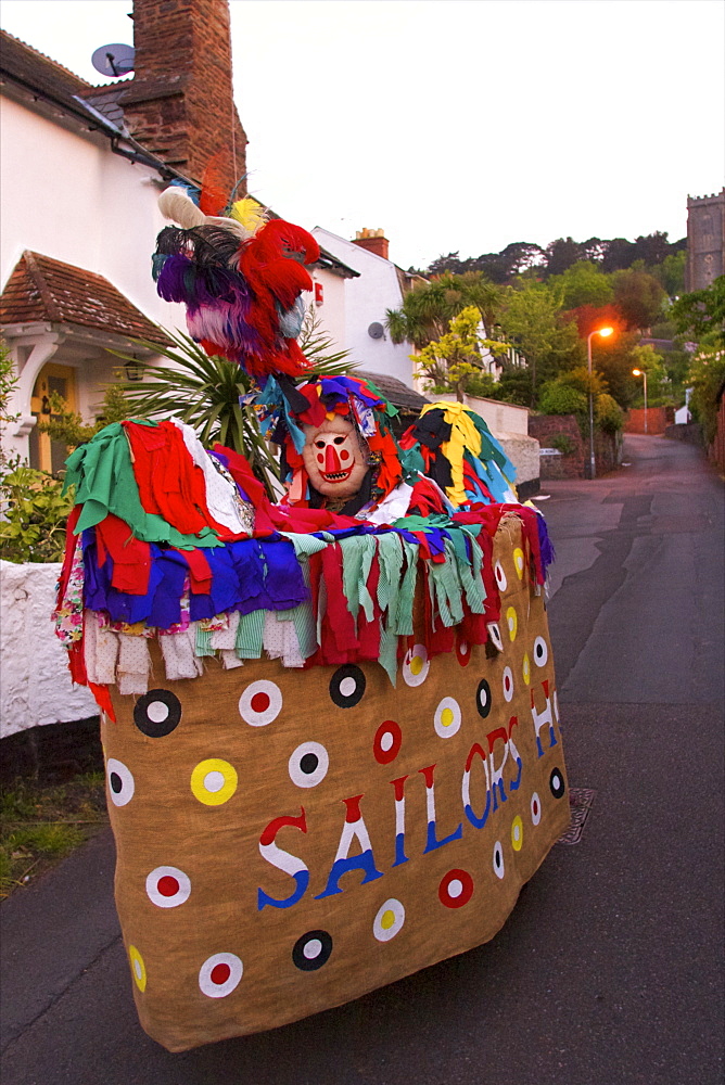
[[[347,384],[334,394],[344,392]],[[369,398],[360,401],[377,409]],[[243,457],[200,449],[183,423],[124,422],[68,460],[78,503],[56,631],[74,680],[109,713],[109,685],[148,689],[155,637],[169,680],[202,674],[208,655],[233,667],[264,652],[295,667],[377,660],[394,681],[414,640],[430,655],[496,642],[493,537],[512,520],[523,567],[545,580],[552,551],[534,509],[479,503],[421,515],[414,502],[394,523],[376,524],[271,505]],[[423,628],[414,628],[417,595]]]

